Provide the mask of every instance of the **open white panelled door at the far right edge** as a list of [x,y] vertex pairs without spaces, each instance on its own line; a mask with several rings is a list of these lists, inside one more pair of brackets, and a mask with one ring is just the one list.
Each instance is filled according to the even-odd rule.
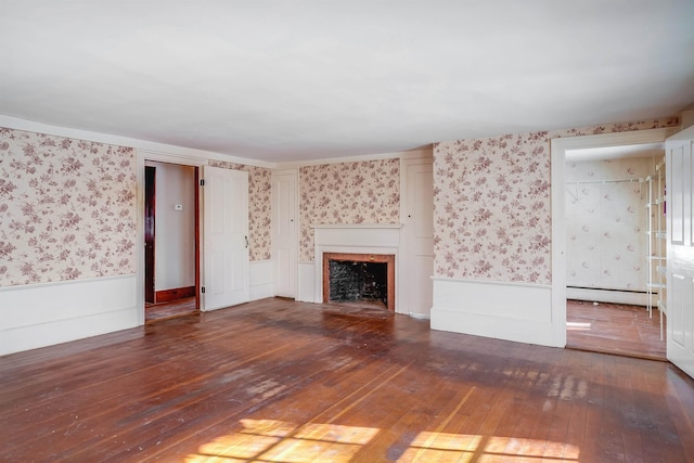
[[666,141],[667,356],[694,377],[694,127]]

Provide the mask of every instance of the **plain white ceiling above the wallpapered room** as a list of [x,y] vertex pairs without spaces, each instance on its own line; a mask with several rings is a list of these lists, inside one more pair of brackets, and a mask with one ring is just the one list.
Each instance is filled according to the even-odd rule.
[[250,159],[693,103],[692,0],[0,0],[0,115]]

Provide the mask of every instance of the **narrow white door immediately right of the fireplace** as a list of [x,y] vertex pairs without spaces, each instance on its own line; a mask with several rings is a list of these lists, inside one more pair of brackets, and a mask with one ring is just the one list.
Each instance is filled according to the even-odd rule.
[[401,311],[429,317],[434,283],[434,169],[433,159],[403,160],[404,266]]

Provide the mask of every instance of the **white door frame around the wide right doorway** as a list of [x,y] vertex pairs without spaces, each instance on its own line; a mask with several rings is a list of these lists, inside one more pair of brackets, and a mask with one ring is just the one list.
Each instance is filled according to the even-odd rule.
[[555,346],[566,346],[566,152],[629,144],[665,143],[678,127],[565,137],[550,141],[552,203],[552,332]]

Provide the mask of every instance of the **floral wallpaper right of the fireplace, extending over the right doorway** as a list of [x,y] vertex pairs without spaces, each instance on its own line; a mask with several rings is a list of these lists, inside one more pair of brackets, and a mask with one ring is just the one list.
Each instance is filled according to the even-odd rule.
[[434,273],[551,284],[550,140],[677,126],[677,117],[434,145]]

